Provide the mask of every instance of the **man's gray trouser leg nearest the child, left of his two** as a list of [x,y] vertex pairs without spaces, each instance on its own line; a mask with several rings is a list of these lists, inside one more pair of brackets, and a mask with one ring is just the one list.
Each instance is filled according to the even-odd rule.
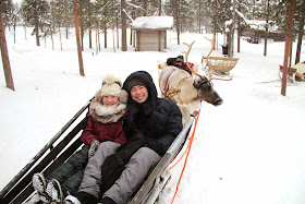
[[120,146],[121,144],[110,141],[100,143],[95,155],[88,160],[78,192],[89,193],[96,199],[100,197],[101,166],[105,158],[113,155]]

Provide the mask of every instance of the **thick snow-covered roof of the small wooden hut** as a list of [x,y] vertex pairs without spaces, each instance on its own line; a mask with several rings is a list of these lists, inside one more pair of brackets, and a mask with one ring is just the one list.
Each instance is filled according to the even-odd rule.
[[132,23],[134,29],[171,29],[172,26],[172,16],[141,16]]

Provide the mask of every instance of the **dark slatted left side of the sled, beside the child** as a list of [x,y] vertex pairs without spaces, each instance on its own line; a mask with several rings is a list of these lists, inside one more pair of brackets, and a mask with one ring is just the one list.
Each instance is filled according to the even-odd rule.
[[[14,200],[14,203],[20,203],[17,201],[23,201],[26,199],[34,189],[32,188],[32,177],[35,172],[42,171],[46,167],[47,169],[46,173],[51,172],[51,168],[56,168],[61,163],[63,163],[71,154],[75,152],[75,149],[82,144],[82,142],[78,140],[75,141],[74,146],[72,145],[68,149],[71,148],[71,151],[65,151],[62,155],[62,158],[52,164],[51,166],[49,164],[52,163],[52,160],[56,159],[56,157],[59,155],[60,152],[62,152],[63,148],[66,147],[66,145],[74,139],[74,136],[85,128],[86,125],[86,118],[84,118],[76,127],[69,133],[56,146],[53,147],[53,143],[63,135],[63,133],[76,121],[76,119],[87,109],[90,100],[50,140],[50,142],[47,143],[47,145],[44,146],[44,148],[7,184],[7,187],[0,192],[0,203],[12,203]],[[37,161],[47,153],[47,151],[50,149],[50,152],[45,156],[44,159],[41,159],[38,164]],[[65,155],[65,156],[64,156]],[[36,165],[36,166],[35,166]],[[34,167],[35,166],[35,167]],[[34,168],[33,168],[34,167]],[[20,195],[19,195],[20,194]]]

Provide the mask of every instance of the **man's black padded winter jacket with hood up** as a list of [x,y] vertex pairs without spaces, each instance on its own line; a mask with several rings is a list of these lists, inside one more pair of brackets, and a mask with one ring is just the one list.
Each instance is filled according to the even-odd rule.
[[[127,89],[133,79],[145,81],[148,87],[149,96],[143,104],[134,101]],[[149,144],[157,144],[162,156],[183,128],[179,107],[171,100],[158,98],[154,81],[146,71],[132,73],[125,80],[123,89],[129,92],[129,118],[123,124],[127,140],[144,137]]]

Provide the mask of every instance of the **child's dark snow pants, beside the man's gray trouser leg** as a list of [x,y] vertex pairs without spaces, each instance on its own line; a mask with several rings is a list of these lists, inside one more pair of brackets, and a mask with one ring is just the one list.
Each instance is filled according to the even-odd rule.
[[57,179],[60,182],[64,196],[76,195],[88,163],[88,149],[89,146],[84,145],[47,177],[48,181]]

